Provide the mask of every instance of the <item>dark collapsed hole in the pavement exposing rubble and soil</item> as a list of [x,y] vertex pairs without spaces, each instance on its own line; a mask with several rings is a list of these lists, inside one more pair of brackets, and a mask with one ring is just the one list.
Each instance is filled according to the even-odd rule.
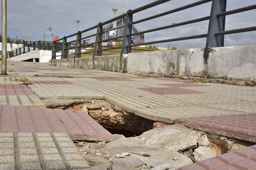
[[50,106],[63,110],[78,110],[89,114],[101,126],[112,134],[121,134],[127,137],[139,136],[153,129],[154,121],[126,112],[103,100],[90,103]]

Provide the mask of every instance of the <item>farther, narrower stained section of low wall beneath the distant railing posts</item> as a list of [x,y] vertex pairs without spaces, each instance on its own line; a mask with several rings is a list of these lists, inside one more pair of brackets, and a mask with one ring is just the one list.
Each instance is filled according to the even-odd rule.
[[[120,62],[121,60],[121,62]],[[121,66],[120,66],[121,63]],[[96,56],[94,57],[84,57],[75,59],[56,59],[52,60],[53,66],[62,67],[73,67],[80,69],[97,69],[105,71],[115,71],[115,72],[126,72],[127,66],[127,55],[109,55],[109,56]]]

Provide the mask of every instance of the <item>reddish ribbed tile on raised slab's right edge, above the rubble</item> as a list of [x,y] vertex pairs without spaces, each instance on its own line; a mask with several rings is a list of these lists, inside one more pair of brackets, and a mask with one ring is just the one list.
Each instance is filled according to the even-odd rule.
[[[225,134],[230,138],[256,142],[255,114],[177,118],[175,123],[217,135]],[[247,152],[250,153],[250,152]],[[256,152],[255,155],[256,156]]]

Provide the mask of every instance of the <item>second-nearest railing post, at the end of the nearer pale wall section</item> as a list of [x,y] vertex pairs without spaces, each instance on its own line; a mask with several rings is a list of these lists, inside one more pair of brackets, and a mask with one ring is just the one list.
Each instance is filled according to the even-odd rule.
[[[131,10],[129,10],[129,11],[131,11]],[[131,45],[131,43],[132,43],[132,37],[127,36],[128,34],[132,33],[132,24],[130,24],[132,22],[132,14],[129,14],[129,11],[127,11],[126,17],[125,17],[121,58],[122,58],[122,54],[128,54],[131,52],[131,47],[126,47],[127,45]]]

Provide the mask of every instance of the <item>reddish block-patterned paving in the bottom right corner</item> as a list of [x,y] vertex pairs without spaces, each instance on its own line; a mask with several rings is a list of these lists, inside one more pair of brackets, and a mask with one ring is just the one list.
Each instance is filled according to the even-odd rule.
[[256,145],[186,165],[178,170],[255,170]]

